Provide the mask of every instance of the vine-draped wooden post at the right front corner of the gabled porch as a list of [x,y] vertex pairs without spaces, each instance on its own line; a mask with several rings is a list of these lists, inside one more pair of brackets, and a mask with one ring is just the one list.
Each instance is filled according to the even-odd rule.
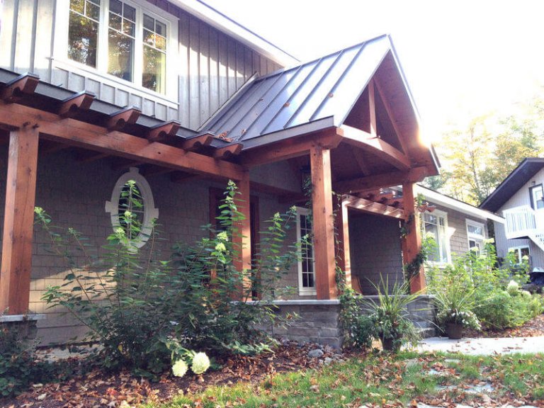
[[[402,197],[404,200],[404,214],[406,216],[404,226],[407,229],[407,234],[402,239],[402,263],[406,266],[414,261],[419,251],[421,251],[420,215],[416,211],[414,183],[402,184]],[[425,288],[425,270],[421,265],[419,271],[414,273],[414,276],[410,279],[410,292],[416,293]]]

